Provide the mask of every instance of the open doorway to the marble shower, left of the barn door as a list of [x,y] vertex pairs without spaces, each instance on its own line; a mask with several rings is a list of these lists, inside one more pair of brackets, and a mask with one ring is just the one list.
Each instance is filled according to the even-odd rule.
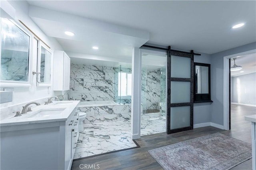
[[142,52],[141,136],[166,132],[167,54]]

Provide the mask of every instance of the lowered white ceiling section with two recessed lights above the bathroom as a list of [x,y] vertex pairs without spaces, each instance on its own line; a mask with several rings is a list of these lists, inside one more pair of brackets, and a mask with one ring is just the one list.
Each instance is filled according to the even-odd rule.
[[[51,2],[51,1],[48,1]],[[149,32],[72,14],[30,6],[29,16],[50,37],[62,45],[66,53],[90,54],[131,59],[133,47],[149,40]],[[64,34],[72,31],[74,36]],[[97,46],[99,49],[92,49]],[[70,55],[70,57],[74,57]]]

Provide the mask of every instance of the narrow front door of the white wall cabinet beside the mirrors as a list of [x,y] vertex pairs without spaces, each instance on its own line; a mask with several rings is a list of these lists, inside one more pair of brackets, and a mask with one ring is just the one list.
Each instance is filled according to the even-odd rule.
[[63,90],[69,90],[70,83],[70,58],[64,53]]

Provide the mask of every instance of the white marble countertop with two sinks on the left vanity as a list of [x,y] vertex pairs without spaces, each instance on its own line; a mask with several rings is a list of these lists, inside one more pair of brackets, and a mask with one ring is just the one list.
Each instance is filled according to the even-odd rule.
[[[54,101],[52,104],[48,105],[40,105],[32,108],[31,112],[26,114],[22,114],[19,117],[8,117],[0,121],[0,126],[12,126],[12,125],[26,125],[26,124],[33,124],[33,123],[47,123],[47,122],[56,122],[56,121],[66,121],[72,113],[72,111],[78,106],[80,100],[69,101],[70,104],[63,104],[63,105],[55,105],[56,103],[66,103],[67,101]],[[63,110],[59,114],[47,115],[47,116],[40,116],[40,117],[30,117],[36,112],[44,109],[61,109]]]

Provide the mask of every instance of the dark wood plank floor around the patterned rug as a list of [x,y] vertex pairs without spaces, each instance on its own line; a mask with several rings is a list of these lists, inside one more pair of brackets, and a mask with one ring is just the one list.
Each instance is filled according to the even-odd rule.
[[[120,152],[114,152],[110,154],[95,156],[92,158],[85,158],[83,160],[76,160],[72,164],[72,170],[81,170],[86,165],[95,165],[100,169],[110,170],[158,170],[162,167],[150,156],[148,150],[156,149],[166,145],[186,141],[196,137],[209,135],[212,133],[220,132],[222,134],[240,139],[242,141],[251,143],[251,127],[250,122],[244,121],[245,115],[252,115],[256,113],[256,107],[232,105],[232,130],[224,131],[215,127],[202,127],[193,129],[190,131],[184,131],[166,135],[166,133],[158,133],[154,135],[142,136],[136,142],[140,145],[140,148],[124,150]],[[97,166],[98,164],[98,166]],[[232,170],[247,170],[252,169],[252,160],[248,160],[234,168]]]

